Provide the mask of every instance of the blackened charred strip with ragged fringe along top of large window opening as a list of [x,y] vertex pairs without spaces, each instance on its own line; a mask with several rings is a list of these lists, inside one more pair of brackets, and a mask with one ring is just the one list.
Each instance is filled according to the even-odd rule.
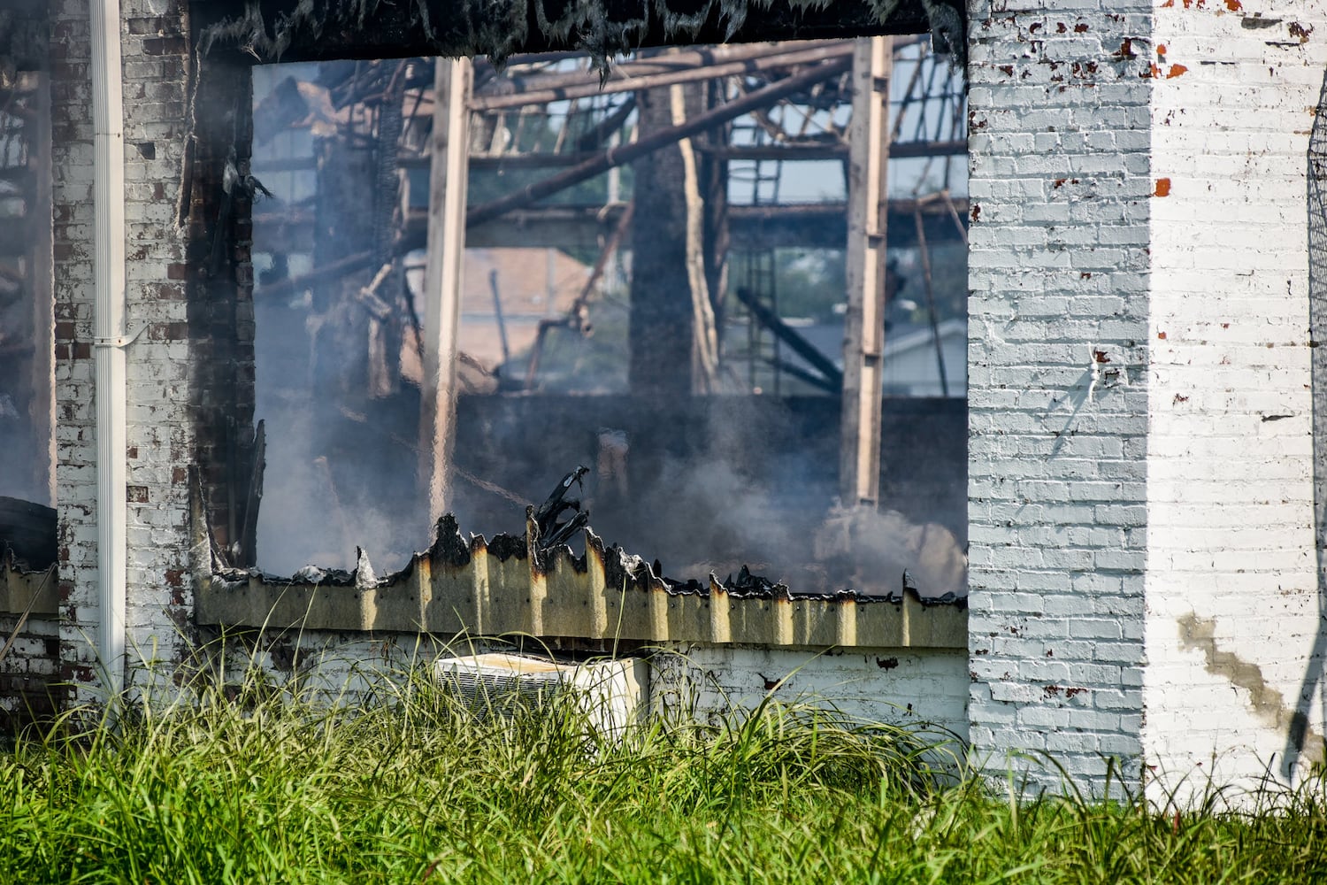
[[641,46],[926,33],[962,66],[958,0],[247,0],[194,1],[199,48],[261,62],[415,54],[584,52],[602,73]]

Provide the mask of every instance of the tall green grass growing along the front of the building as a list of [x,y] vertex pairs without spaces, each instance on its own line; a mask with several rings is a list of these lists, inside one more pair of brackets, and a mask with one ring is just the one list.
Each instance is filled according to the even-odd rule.
[[0,755],[0,882],[1327,881],[1320,780],[1178,817],[1032,797],[807,707],[612,746],[422,685],[353,715],[204,691],[76,720]]

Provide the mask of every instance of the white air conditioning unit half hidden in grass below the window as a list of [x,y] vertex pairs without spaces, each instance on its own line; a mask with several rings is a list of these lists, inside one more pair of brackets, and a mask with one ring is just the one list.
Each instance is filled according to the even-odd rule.
[[433,665],[439,689],[480,713],[510,714],[571,699],[602,738],[637,724],[649,703],[649,669],[640,658],[557,663],[520,654],[468,654]]

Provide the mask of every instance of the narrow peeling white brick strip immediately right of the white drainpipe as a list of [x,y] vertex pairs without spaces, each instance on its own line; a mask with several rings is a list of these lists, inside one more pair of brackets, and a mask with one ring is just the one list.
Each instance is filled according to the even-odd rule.
[[[167,667],[191,653],[190,523],[186,467],[192,448],[187,342],[170,330],[187,321],[186,284],[178,279],[186,231],[176,207],[186,146],[187,56],[155,54],[155,42],[179,38],[187,11],[173,0],[123,0],[125,218],[127,222],[130,332],[146,326],[126,352],[129,385],[129,593],[125,612],[129,661]],[[133,61],[151,60],[142,70]],[[182,64],[183,62],[183,64]]]

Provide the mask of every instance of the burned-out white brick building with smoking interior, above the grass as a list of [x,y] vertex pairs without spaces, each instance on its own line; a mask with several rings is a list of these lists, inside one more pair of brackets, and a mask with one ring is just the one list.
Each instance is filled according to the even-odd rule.
[[[54,527],[36,529],[54,532],[53,568],[27,541],[5,564],[8,710],[186,682],[212,630],[277,617],[346,649],[460,630],[694,644],[756,690],[783,685],[771,654],[841,649],[863,694],[921,698],[979,752],[1052,751],[1085,783],[1103,755],[1164,778],[1216,752],[1223,782],[1273,755],[1283,778],[1320,762],[1327,17],[1307,1],[1007,7],[7,3],[0,495]],[[966,73],[965,199],[888,187],[906,141],[889,84],[914,34]],[[807,42],[748,45],[766,40]],[[706,44],[727,45],[689,49]],[[677,58],[621,62],[629,90],[600,89],[593,65],[667,45]],[[299,62],[326,64],[255,74]],[[532,149],[484,109],[539,89],[620,97]],[[784,100],[851,107],[815,123],[851,130],[782,143],[798,133],[763,111]],[[780,143],[734,141],[743,117]],[[553,157],[496,157],[512,143]],[[780,150],[845,166],[841,207],[733,199],[723,175],[756,163],[758,194]],[[484,163],[519,187],[479,199]],[[548,199],[632,163],[630,200]],[[576,231],[592,248],[557,240]],[[844,253],[847,344],[828,356],[764,284],[778,256],[762,244],[813,234]],[[460,356],[467,238],[584,268],[525,314],[532,350],[499,342],[496,373]],[[884,399],[889,249],[945,238],[966,244],[966,409]],[[533,395],[556,377],[549,348],[609,317],[594,304],[620,252],[628,309],[596,330],[621,341],[612,381]],[[492,269],[496,329],[514,303]],[[924,277],[906,285],[947,386]],[[296,442],[313,444],[292,456]],[[398,470],[380,480],[384,452]],[[280,458],[321,483],[300,520],[322,539],[311,552],[368,555],[264,577],[264,544],[284,543],[268,513],[300,506],[277,491],[296,476]],[[541,547],[522,506],[576,463],[597,483],[583,556]],[[429,551],[377,555],[358,533],[372,502],[387,549]],[[730,523],[726,502],[746,504]],[[510,536],[466,539],[447,510]],[[831,529],[829,563],[892,532],[921,549],[909,532],[936,524],[966,539],[966,586],[909,590],[894,561],[726,580],[726,556],[763,556],[752,539],[802,512]],[[706,549],[721,529],[727,547]],[[815,553],[788,547],[805,535],[770,547],[804,565]],[[402,571],[378,577],[370,556]],[[928,589],[966,604],[926,605]],[[299,649],[249,647],[296,666]]]

